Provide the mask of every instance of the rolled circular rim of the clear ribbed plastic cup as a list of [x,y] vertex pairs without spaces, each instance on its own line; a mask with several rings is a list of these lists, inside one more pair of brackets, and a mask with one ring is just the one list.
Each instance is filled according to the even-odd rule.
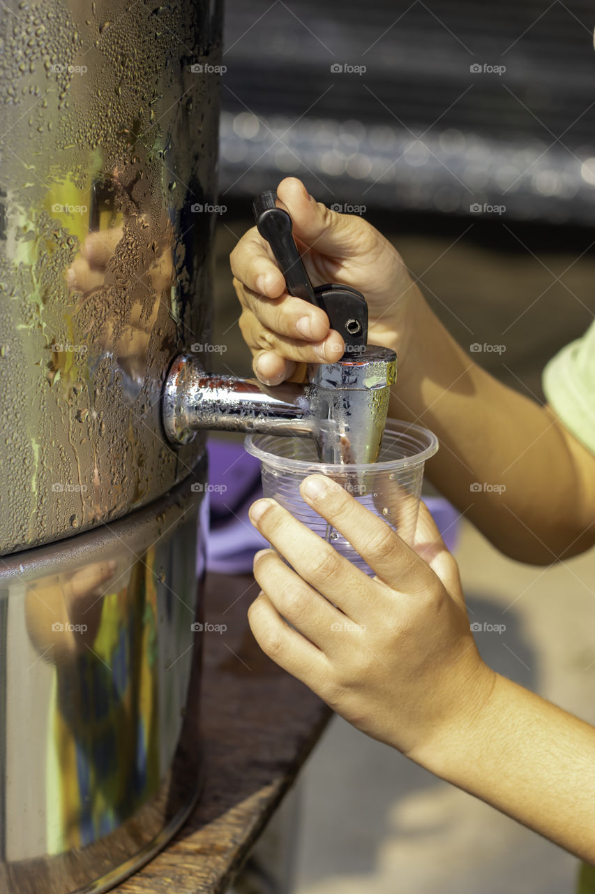
[[[438,438],[428,428],[415,426],[413,423],[402,422],[399,419],[388,419],[382,436],[382,444],[386,444],[387,435],[392,435],[391,441],[398,441],[399,438],[411,434],[422,443],[425,443],[423,450],[414,453],[412,456],[404,456],[399,460],[379,460],[378,462],[354,462],[348,465],[331,462],[318,462],[317,460],[292,460],[289,457],[281,457],[276,453],[265,451],[256,443],[263,438],[281,438],[279,434],[247,434],[244,441],[244,448],[251,456],[256,456],[258,460],[264,462],[267,466],[281,469],[284,472],[302,471],[306,469],[314,469],[315,471],[329,471],[331,474],[340,475],[345,472],[346,468],[354,472],[368,471],[398,471],[400,468],[407,466],[418,466],[425,460],[429,460],[431,456],[438,450]],[[285,440],[285,439],[284,439]]]

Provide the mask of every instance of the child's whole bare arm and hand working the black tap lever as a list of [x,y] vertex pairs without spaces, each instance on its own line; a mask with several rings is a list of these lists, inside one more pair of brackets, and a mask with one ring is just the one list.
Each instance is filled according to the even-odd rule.
[[[397,351],[389,417],[437,435],[440,451],[426,469],[432,483],[515,559],[549,563],[589,548],[592,453],[549,406],[508,388],[474,362],[481,355],[470,351],[480,333],[469,330],[472,343],[457,344],[398,252],[373,226],[317,203],[293,177],[281,181],[277,196],[291,216],[312,284],[341,283],[360,291],[368,304],[368,343]],[[285,291],[256,227],[234,249],[231,269],[243,308],[240,327],[261,381],[279,384],[296,375],[299,362],[339,359],[338,333],[329,331],[320,308]],[[313,327],[309,338],[300,333],[305,320]]]

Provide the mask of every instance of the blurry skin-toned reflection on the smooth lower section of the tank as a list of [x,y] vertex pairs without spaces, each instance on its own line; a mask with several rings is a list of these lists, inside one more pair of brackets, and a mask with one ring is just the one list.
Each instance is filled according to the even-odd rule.
[[46,662],[71,661],[91,647],[101,621],[105,584],[115,561],[94,562],[70,575],[50,575],[28,587],[25,619],[29,637]]

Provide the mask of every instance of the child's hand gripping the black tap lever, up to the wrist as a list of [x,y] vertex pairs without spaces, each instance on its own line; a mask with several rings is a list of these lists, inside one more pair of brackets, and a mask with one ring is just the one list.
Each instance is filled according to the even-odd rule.
[[[408,308],[421,295],[390,242],[361,217],[316,202],[294,177],[281,181],[277,196],[293,221],[311,283],[341,283],[361,291],[368,302],[368,342],[398,349]],[[323,310],[286,291],[270,246],[256,227],[239,240],[230,262],[243,308],[239,325],[262,382],[289,379],[300,362],[334,363],[342,356],[344,342],[329,328]]]

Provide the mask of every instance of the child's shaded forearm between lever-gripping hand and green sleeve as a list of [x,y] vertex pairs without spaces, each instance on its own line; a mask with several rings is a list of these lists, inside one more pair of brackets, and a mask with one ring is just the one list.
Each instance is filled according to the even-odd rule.
[[417,308],[390,416],[439,437],[428,477],[515,559],[549,564],[587,549],[595,534],[589,451],[549,408],[476,366],[422,299]]

